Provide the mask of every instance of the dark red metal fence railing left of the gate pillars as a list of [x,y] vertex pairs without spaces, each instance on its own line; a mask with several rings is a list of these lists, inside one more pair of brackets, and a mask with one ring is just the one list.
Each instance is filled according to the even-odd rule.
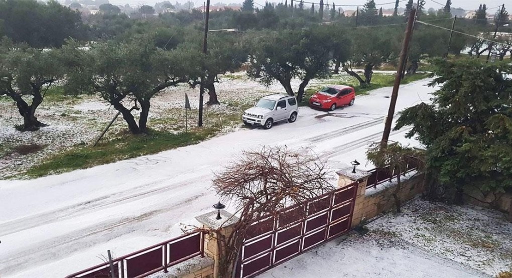
[[[142,278],[158,271],[194,258],[204,256],[204,232],[198,231],[184,234],[142,250],[120,256],[113,260],[115,277]],[[73,273],[66,278],[110,278],[111,264],[96,265]]]

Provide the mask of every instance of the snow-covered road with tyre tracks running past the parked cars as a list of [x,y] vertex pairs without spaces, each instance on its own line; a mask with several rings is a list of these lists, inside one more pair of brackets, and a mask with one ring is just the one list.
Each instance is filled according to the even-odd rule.
[[[400,89],[396,111],[429,99],[429,79]],[[61,277],[181,233],[180,223],[218,201],[213,173],[262,145],[311,147],[332,168],[378,141],[391,88],[356,98],[335,113],[301,108],[295,123],[242,130],[162,152],[30,181],[0,181],[0,276]],[[408,129],[393,131],[403,142]],[[368,167],[371,167],[369,165]],[[228,204],[229,205],[229,204]]]

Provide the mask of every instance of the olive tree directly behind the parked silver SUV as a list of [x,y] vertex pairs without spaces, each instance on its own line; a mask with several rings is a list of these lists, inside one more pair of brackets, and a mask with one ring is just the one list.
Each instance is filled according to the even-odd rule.
[[298,78],[298,101],[311,79],[330,75],[332,40],[323,27],[266,32],[250,36],[246,43],[252,46],[249,77],[265,85],[279,81],[291,96],[291,81]]

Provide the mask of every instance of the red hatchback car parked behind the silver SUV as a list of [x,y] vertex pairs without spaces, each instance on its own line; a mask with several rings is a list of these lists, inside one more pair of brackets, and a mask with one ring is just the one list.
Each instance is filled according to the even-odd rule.
[[353,105],[354,101],[354,88],[344,85],[330,85],[316,92],[309,99],[309,105],[333,111],[339,106]]

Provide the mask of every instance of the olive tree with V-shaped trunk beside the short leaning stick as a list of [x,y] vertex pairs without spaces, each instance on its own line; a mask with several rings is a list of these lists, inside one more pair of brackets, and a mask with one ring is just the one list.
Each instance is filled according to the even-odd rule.
[[[129,42],[101,42],[88,49],[70,44],[65,51],[68,57],[80,60],[69,67],[68,90],[99,93],[121,113],[133,134],[148,132],[151,98],[168,87],[196,78],[201,64],[200,54],[189,46],[165,51],[145,37]],[[134,110],[141,111],[138,124]]]

